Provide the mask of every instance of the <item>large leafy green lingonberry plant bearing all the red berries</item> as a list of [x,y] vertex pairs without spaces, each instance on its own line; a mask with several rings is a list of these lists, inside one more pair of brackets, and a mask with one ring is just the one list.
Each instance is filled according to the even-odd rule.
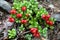
[[37,0],[14,0],[10,11],[9,21],[17,23],[16,29],[28,40],[32,37],[46,37],[47,29],[53,29],[54,18],[51,18],[45,8],[38,8],[38,4]]

